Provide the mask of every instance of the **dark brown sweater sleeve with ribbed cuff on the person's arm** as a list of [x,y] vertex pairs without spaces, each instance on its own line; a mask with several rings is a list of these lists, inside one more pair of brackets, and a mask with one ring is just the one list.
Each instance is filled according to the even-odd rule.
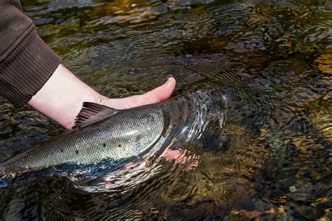
[[0,1],[0,95],[26,104],[60,64],[58,57],[22,13],[19,0]]

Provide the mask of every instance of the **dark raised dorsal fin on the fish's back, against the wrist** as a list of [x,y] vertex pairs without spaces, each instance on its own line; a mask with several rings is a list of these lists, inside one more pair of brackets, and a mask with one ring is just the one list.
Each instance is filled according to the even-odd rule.
[[74,128],[83,127],[98,120],[118,113],[120,110],[92,102],[83,102],[81,111],[76,116]]

